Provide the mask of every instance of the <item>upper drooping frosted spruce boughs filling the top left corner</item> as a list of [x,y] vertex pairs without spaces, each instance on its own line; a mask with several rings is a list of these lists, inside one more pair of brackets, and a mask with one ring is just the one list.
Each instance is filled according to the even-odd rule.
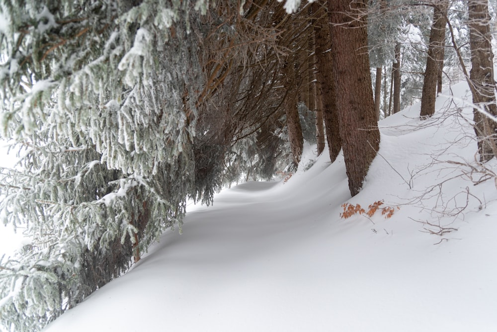
[[[3,13],[12,18],[0,72],[4,135],[25,137],[40,122],[56,122],[53,135],[73,140],[75,130],[84,132],[102,162],[125,173],[156,173],[179,155],[188,145],[182,96],[198,88],[201,70],[186,32],[168,42],[173,22],[189,26],[180,14],[187,8],[163,2],[11,3]],[[62,126],[67,121],[73,126]]]

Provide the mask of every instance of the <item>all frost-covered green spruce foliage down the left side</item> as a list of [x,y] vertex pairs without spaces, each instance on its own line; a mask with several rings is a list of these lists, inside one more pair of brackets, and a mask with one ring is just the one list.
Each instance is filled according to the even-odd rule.
[[1,219],[33,236],[0,262],[7,330],[44,326],[180,226],[196,194],[194,6],[1,1],[1,129],[26,150],[1,170]]

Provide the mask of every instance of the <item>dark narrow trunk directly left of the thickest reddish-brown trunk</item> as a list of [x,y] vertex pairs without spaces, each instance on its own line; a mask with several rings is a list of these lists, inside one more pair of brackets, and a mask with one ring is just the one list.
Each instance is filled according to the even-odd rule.
[[[318,12],[319,4],[312,4],[313,11]],[[315,8],[315,10],[314,10]],[[334,162],[341,149],[340,127],[336,109],[336,92],[333,78],[333,63],[328,15],[321,15],[314,25],[316,33],[316,71],[318,86],[321,88],[323,117],[325,120],[326,139],[330,160]]]

